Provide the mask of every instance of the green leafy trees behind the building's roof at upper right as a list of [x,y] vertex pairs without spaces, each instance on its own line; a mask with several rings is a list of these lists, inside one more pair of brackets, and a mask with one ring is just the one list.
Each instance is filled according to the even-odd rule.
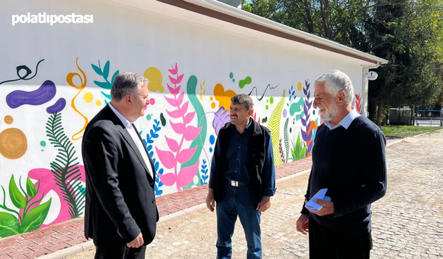
[[252,0],[244,7],[387,59],[369,83],[370,106],[433,104],[443,96],[441,0]]

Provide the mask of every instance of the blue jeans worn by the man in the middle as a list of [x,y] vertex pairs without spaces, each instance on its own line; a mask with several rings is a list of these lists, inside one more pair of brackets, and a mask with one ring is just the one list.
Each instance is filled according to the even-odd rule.
[[262,238],[260,237],[261,211],[255,210],[251,193],[246,186],[230,186],[223,189],[223,198],[217,203],[217,259],[232,257],[232,236],[237,215],[242,222],[248,244],[247,259],[262,258]]

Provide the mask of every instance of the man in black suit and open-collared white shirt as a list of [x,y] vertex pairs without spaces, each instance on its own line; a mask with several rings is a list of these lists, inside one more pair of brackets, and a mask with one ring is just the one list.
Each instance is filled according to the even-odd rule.
[[145,258],[159,220],[154,165],[133,124],[149,104],[147,79],[120,73],[111,97],[83,136],[84,235],[93,239],[96,259]]

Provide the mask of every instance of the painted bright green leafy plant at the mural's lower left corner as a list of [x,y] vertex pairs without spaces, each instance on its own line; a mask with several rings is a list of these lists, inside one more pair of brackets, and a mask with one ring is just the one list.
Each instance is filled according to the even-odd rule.
[[[23,193],[18,187],[20,187]],[[20,185],[17,186],[15,183],[14,175],[11,176],[9,182],[9,198],[12,204],[19,210],[19,212],[17,212],[17,210],[6,206],[6,192],[3,186],[1,186],[3,191],[3,204],[0,204],[0,208],[9,213],[0,211],[0,238],[26,233],[39,229],[39,227],[42,226],[51,207],[51,199],[44,204],[35,206],[35,204],[41,202],[44,198],[43,194],[39,200],[34,200],[39,187],[40,186],[35,189],[33,182],[31,182],[30,178],[27,178],[25,192]]]

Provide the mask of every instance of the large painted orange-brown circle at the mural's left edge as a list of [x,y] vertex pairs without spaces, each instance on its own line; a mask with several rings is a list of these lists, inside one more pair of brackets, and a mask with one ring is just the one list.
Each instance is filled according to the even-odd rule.
[[28,140],[18,128],[7,128],[0,133],[0,153],[8,159],[22,157],[28,150]]

